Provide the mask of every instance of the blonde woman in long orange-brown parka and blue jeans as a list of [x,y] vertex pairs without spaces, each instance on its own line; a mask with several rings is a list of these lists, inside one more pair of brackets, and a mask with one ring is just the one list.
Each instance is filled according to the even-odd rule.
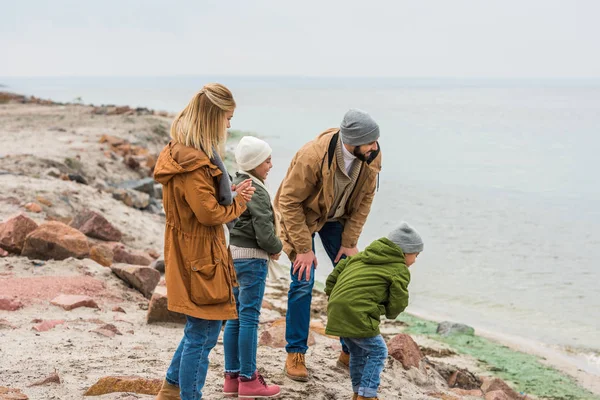
[[232,187],[217,151],[234,109],[225,86],[204,86],[173,121],[154,170],[163,185],[169,310],[187,318],[157,400],[202,398],[222,321],[237,318],[226,224],[246,210],[254,188],[249,179]]

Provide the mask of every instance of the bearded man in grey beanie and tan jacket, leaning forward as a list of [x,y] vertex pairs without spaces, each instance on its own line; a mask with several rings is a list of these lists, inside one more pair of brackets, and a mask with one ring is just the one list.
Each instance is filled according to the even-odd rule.
[[[292,261],[285,363],[291,379],[308,381],[304,355],[318,265],[314,235],[319,234],[334,265],[358,253],[381,170],[378,139],[379,126],[369,114],[349,110],[340,128],[326,130],[296,153],[275,197],[283,250]],[[338,364],[348,367],[349,360],[342,342]]]

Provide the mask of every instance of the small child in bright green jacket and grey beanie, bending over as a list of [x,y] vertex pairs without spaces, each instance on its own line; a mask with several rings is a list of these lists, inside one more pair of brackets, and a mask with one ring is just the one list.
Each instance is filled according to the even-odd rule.
[[398,317],[408,305],[410,267],[423,251],[421,236],[406,222],[387,238],[346,258],[327,277],[328,335],[339,336],[350,350],[353,399],[376,399],[387,346],[379,319]]

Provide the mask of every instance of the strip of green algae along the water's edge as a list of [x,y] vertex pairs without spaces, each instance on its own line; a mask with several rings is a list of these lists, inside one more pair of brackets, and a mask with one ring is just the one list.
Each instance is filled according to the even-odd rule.
[[479,336],[440,336],[436,334],[436,322],[410,314],[401,314],[398,320],[408,324],[406,333],[429,336],[450,345],[459,353],[468,354],[487,364],[494,375],[514,382],[518,392],[556,400],[600,399],[578,386],[572,378],[543,365],[539,357],[511,350]]

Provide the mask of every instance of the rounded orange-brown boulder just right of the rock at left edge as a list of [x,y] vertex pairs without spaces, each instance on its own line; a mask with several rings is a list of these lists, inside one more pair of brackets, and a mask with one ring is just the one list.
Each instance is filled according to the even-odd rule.
[[51,221],[40,225],[25,239],[23,256],[42,260],[85,258],[90,254],[87,238],[75,228]]

